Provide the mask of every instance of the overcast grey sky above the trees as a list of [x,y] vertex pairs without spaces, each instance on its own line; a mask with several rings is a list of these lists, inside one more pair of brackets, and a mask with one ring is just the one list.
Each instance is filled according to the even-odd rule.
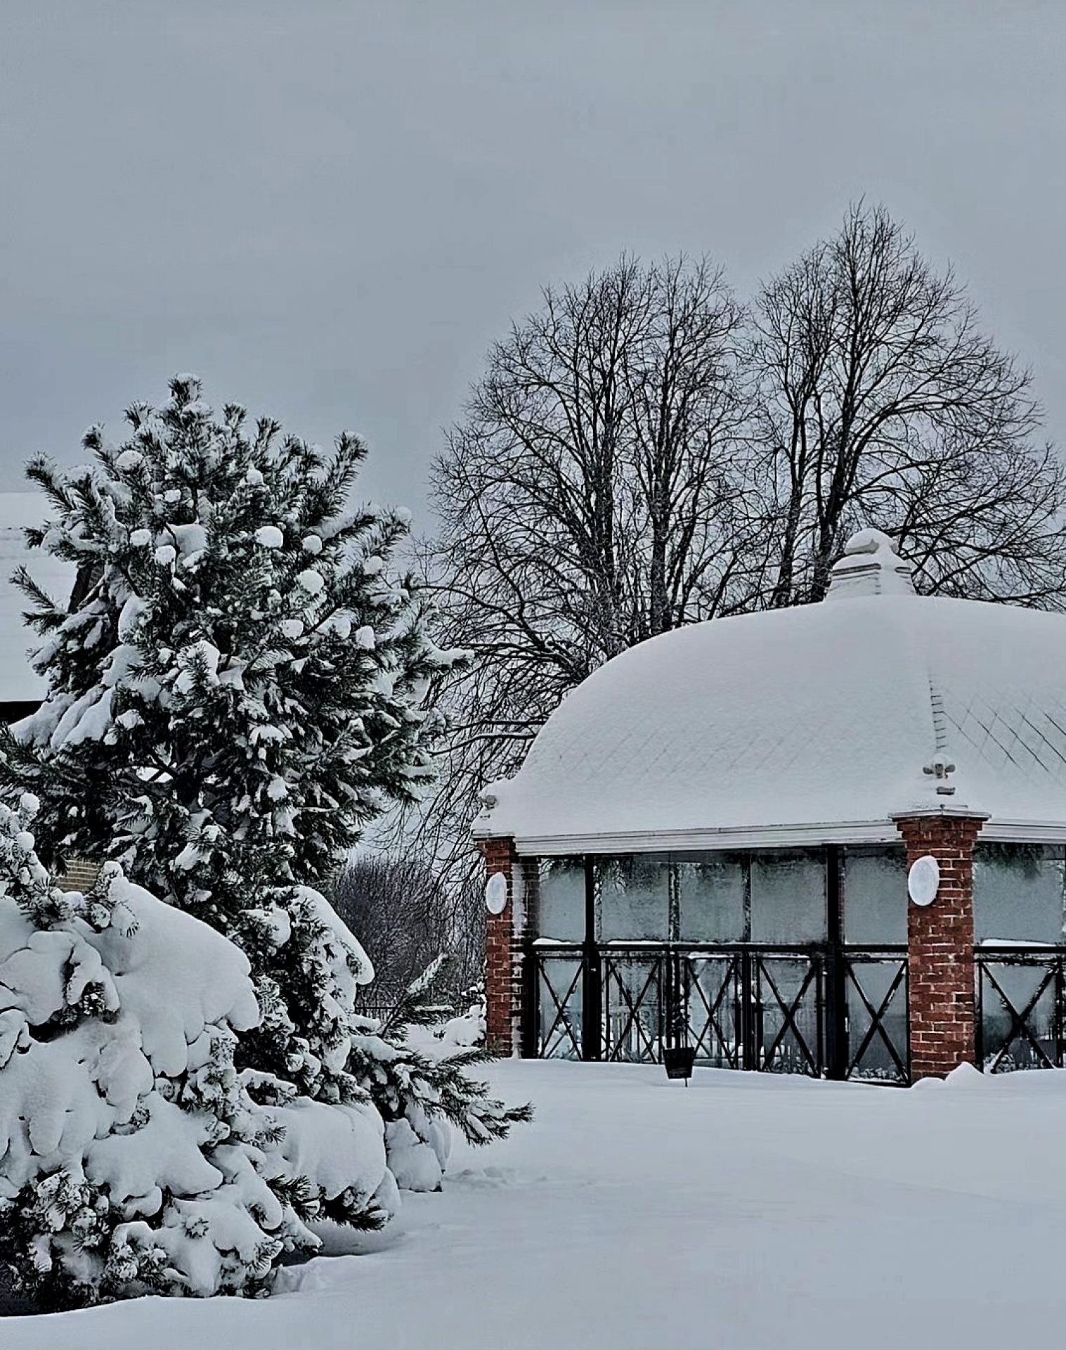
[[0,489],[175,370],[426,510],[549,281],[710,252],[744,294],[885,202],[1066,441],[1066,4],[8,0]]

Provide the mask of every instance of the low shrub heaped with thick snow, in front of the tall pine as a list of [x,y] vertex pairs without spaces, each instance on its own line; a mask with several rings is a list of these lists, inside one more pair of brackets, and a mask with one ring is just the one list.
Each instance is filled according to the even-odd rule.
[[381,1118],[258,1104],[247,959],[116,864],[57,890],[35,806],[0,806],[0,1258],[42,1307],[267,1292],[304,1220],[389,1203]]

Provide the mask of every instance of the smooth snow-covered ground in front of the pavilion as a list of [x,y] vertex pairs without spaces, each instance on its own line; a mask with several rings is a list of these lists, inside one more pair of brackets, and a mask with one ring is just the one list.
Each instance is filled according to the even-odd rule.
[[1057,1345],[1066,1072],[911,1091],[493,1066],[533,1126],[459,1146],[378,1250],[254,1303],[7,1319],[18,1350],[864,1350]]

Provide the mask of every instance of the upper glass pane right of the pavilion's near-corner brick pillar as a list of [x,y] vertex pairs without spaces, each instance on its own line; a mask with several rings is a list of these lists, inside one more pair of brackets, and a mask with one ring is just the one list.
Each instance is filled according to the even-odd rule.
[[973,925],[978,942],[1062,942],[1063,850],[1043,844],[977,844]]

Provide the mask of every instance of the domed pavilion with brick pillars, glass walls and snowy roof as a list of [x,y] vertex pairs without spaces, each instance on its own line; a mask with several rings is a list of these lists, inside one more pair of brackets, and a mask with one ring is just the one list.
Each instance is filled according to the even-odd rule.
[[1063,1065],[1066,616],[911,572],[861,531],[820,603],[653,637],[563,701],[475,828],[497,1048]]

